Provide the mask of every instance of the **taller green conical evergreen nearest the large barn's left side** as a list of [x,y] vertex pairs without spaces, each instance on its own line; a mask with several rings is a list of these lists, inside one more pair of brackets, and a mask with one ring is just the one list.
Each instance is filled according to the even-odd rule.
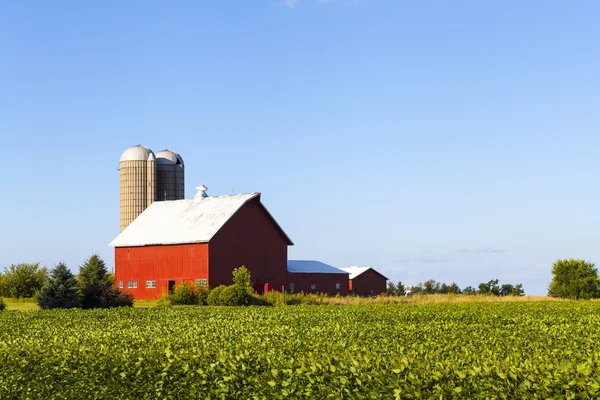
[[104,261],[92,254],[79,267],[77,290],[82,308],[130,307],[133,295],[114,287]]

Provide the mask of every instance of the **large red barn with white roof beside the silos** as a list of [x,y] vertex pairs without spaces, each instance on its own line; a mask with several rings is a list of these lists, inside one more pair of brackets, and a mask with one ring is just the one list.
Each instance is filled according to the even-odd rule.
[[181,282],[230,285],[245,265],[256,287],[281,288],[292,241],[260,193],[154,202],[113,242],[115,285],[136,300],[158,299]]

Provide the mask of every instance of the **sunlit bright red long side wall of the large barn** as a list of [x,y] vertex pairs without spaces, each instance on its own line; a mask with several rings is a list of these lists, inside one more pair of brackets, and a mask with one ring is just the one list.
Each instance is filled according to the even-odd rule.
[[[155,300],[168,290],[168,281],[196,283],[208,279],[208,244],[122,247],[115,249],[115,286],[123,281],[123,290],[136,300]],[[137,281],[137,289],[127,288]],[[156,288],[146,288],[155,280]],[[210,285],[210,282],[209,282]]]

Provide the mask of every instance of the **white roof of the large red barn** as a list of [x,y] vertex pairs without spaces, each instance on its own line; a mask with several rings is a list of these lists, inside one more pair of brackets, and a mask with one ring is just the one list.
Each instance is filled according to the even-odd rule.
[[[246,202],[256,198],[260,201],[260,193],[213,196],[202,200],[156,201],[133,220],[110,246],[208,243]],[[267,215],[288,243],[293,244],[268,211]]]

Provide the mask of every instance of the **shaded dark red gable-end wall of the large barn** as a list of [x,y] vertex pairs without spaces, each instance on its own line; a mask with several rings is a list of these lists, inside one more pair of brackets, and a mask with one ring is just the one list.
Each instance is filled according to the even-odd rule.
[[[255,287],[285,285],[285,235],[272,221],[260,200],[240,208],[210,241],[210,286],[230,285],[232,271],[245,265]],[[278,289],[280,290],[280,289]]]

